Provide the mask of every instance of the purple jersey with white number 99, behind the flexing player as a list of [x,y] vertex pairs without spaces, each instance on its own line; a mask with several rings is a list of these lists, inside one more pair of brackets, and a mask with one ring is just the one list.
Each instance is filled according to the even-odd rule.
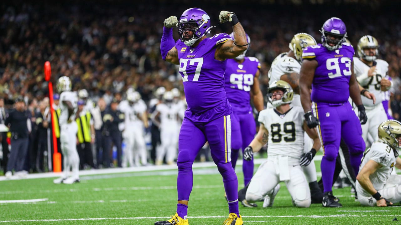
[[252,111],[249,92],[259,69],[260,63],[255,57],[245,57],[242,63],[235,59],[227,60],[224,74],[225,91],[234,112]]

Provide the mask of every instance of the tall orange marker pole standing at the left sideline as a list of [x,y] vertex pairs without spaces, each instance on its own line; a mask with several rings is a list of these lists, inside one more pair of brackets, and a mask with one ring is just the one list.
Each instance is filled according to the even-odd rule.
[[51,67],[50,62],[45,62],[45,80],[49,82],[49,99],[50,99],[50,115],[51,115],[51,126],[52,126],[52,138],[53,138],[53,172],[61,172],[61,153],[57,152],[57,139],[55,133],[55,121],[54,121],[54,108],[53,108],[53,83],[51,78]]

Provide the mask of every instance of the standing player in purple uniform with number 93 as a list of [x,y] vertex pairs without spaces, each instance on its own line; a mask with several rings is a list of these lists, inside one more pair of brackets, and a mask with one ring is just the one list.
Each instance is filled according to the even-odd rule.
[[[360,125],[366,123],[367,116],[354,74],[354,49],[345,42],[344,22],[332,17],[323,24],[321,32],[322,44],[308,46],[302,53],[301,104],[308,127],[317,127],[323,145],[320,165],[324,187],[322,205],[341,207],[332,194],[340,139],[344,139],[348,146],[350,164],[358,174],[365,151]],[[348,102],[349,97],[358,106],[359,120]]]

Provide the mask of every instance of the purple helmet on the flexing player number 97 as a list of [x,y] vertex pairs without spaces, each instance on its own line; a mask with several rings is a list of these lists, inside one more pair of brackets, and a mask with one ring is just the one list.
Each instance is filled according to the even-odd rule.
[[[185,10],[178,22],[178,34],[186,46],[192,46],[199,38],[209,33],[210,29],[209,15],[200,8],[188,8]],[[193,36],[186,36],[186,31],[192,31]]]

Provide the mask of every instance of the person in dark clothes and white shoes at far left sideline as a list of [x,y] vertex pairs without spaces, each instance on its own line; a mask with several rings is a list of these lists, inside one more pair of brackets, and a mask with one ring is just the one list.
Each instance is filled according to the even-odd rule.
[[10,111],[4,123],[10,126],[12,149],[7,164],[6,178],[11,177],[12,170],[18,175],[23,175],[21,171],[28,151],[29,117],[29,112],[25,109],[24,99],[19,96],[15,101],[15,109]]

